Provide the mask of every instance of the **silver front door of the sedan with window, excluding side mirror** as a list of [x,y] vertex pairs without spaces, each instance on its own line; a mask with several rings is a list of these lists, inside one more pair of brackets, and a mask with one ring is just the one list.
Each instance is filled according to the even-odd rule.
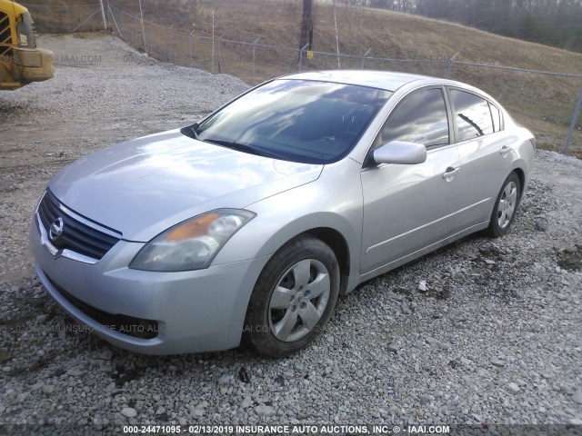
[[362,273],[393,263],[455,231],[460,161],[456,145],[451,144],[444,93],[444,88],[428,87],[406,95],[370,149],[395,140],[413,142],[426,145],[427,158],[415,165],[364,164]]

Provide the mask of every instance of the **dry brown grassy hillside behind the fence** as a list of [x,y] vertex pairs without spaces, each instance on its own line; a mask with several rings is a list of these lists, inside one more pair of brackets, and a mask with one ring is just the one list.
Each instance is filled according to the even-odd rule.
[[[46,3],[61,5],[49,0]],[[111,5],[130,14],[139,14],[137,2],[111,0]],[[252,43],[260,37],[260,44],[277,45],[295,49],[298,41],[302,2],[299,0],[142,0],[146,22],[156,25],[175,25],[172,35],[172,62],[236,75],[251,82],[251,47],[223,42],[221,59],[217,63],[215,44],[212,63],[213,11],[216,38]],[[35,9],[31,9],[35,14]],[[71,11],[75,11],[71,7]],[[114,9],[115,10],[115,9]],[[38,8],[35,20],[42,29],[43,22],[53,26],[58,17],[50,16],[50,9]],[[333,6],[316,4],[314,50],[335,53],[336,34]],[[61,15],[61,18],[62,15]],[[337,5],[339,51],[341,54],[361,56],[371,49],[365,65],[368,69],[389,69],[421,74],[444,76],[443,62],[457,54],[457,62],[498,64],[544,70],[556,73],[582,74],[582,55],[545,45],[518,41],[488,34],[462,25],[445,23],[420,16],[363,7]],[[73,18],[72,18],[73,21]],[[120,21],[120,14],[117,15]],[[96,26],[99,21],[96,20]],[[125,15],[125,39],[150,54],[168,60],[168,33],[166,29],[146,23],[146,47],[143,46],[141,26]],[[50,26],[46,25],[50,30]],[[85,28],[83,30],[86,30]],[[184,34],[180,34],[184,32]],[[194,54],[189,57],[188,34],[194,32]],[[208,39],[202,39],[202,38]],[[441,61],[440,64],[384,62],[377,58],[422,59]],[[359,68],[360,58],[341,59],[343,68]],[[297,54],[291,50],[256,49],[255,82],[277,74],[296,71]],[[337,68],[335,55],[316,53],[304,68]],[[507,72],[473,66],[454,65],[451,78],[475,84],[494,95],[515,114],[516,118],[531,128],[538,143],[548,149],[560,151],[567,135],[577,94],[582,79],[541,74]],[[573,149],[582,150],[582,121],[577,125]]]

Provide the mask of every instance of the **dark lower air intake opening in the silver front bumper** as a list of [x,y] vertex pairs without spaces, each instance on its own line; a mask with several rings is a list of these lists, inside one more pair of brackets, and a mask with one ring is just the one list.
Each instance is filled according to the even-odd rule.
[[70,302],[79,311],[85,313],[89,318],[99,322],[108,329],[137,339],[154,339],[159,333],[159,324],[156,321],[100,311],[75,298],[69,292],[66,292],[62,287],[53,282],[50,277],[46,276],[46,278],[55,287],[56,291],[65,297],[67,302]]

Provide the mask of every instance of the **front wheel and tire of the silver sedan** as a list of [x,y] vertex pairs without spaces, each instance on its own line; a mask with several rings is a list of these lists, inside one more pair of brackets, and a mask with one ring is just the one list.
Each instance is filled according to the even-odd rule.
[[336,255],[312,236],[284,245],[266,263],[246,310],[243,341],[256,352],[286,357],[323,330],[336,306]]

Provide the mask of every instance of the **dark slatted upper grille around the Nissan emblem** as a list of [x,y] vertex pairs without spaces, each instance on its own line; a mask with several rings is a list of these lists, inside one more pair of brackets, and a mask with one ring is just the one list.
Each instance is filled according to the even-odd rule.
[[[49,235],[51,234],[51,225],[59,218],[63,220],[63,233],[58,237],[49,236],[51,243],[57,249],[68,249],[92,259],[100,260],[121,239],[121,234],[113,229],[109,229],[113,234],[105,233],[95,228],[103,228],[102,225],[95,223],[95,227],[92,227],[87,224],[89,220],[85,220],[87,223],[82,223],[65,213],[61,208],[61,203],[48,190],[38,205],[38,216]],[[114,236],[115,233],[119,236]]]

